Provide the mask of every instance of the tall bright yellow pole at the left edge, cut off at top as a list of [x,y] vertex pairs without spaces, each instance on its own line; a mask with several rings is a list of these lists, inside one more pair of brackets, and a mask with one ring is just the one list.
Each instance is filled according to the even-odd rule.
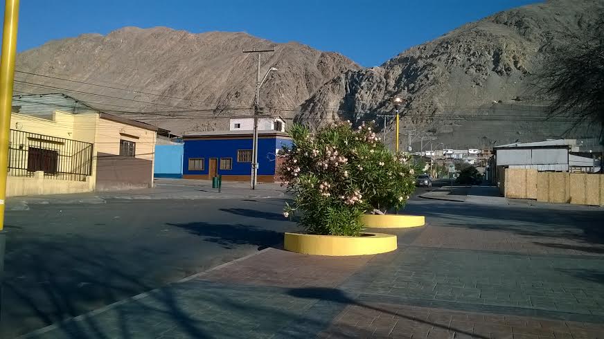
[[8,137],[10,135],[10,111],[12,109],[12,80],[15,78],[18,21],[19,0],[6,0],[4,30],[2,33],[2,57],[0,59],[0,231],[4,228]]

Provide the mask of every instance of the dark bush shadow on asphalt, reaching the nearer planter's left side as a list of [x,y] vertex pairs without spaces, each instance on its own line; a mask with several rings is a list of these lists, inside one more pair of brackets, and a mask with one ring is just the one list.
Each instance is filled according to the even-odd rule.
[[[283,215],[281,215],[281,219],[283,219]],[[263,230],[242,224],[212,224],[200,221],[196,223],[167,223],[166,225],[182,228],[193,235],[205,237],[204,241],[219,244],[223,248],[234,248],[236,245],[268,247],[278,245],[283,241],[283,232]]]

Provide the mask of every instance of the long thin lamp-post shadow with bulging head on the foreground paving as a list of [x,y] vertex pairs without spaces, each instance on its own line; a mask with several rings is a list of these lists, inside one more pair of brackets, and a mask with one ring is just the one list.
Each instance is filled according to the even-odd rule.
[[[472,338],[481,338],[486,339],[486,337],[479,336],[475,333],[471,333],[468,331],[463,331],[462,329],[456,329],[454,327],[449,327],[448,325],[437,324],[434,322],[429,322],[424,319],[411,317],[409,315],[403,315],[396,312],[392,312],[386,309],[380,309],[379,307],[371,306],[368,304],[363,304],[362,302],[357,302],[350,296],[348,296],[344,291],[341,291],[338,288],[324,288],[324,287],[302,287],[302,288],[292,288],[287,291],[287,294],[292,295],[294,297],[301,298],[311,298],[318,300],[326,300],[330,302],[337,302],[338,304],[345,304],[346,306],[361,306],[366,309],[372,309],[373,311],[378,311],[382,313],[387,313],[389,315],[394,315],[398,318],[405,318],[407,320],[413,320],[415,322],[420,322],[422,324],[429,324],[434,327],[439,327],[441,329],[446,329],[447,331],[455,331],[456,333],[463,334],[465,336],[470,336]],[[338,336],[339,338],[339,336]],[[357,338],[356,336],[353,338]]]

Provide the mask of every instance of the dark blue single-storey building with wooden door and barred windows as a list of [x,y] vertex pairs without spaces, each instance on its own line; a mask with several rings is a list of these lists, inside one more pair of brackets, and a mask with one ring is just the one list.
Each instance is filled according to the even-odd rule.
[[[251,179],[252,131],[195,132],[183,137],[183,178],[225,181]],[[258,182],[278,181],[276,154],[292,140],[281,131],[258,131]]]

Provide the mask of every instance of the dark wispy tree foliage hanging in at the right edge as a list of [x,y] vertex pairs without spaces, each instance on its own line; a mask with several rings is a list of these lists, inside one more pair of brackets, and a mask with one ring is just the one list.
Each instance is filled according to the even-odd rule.
[[574,127],[593,124],[604,143],[604,15],[579,32],[557,35],[562,39],[544,47],[547,54],[533,84],[551,99],[550,117],[571,118]]

